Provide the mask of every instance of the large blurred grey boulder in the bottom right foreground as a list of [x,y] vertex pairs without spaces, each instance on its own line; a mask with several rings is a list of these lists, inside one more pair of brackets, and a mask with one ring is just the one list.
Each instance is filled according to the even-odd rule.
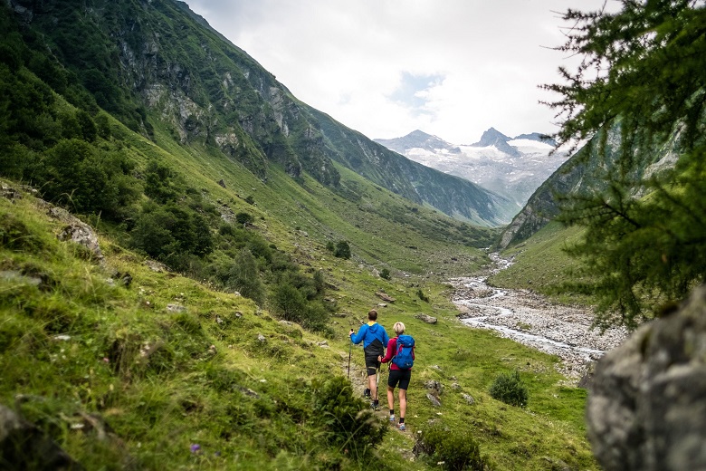
[[588,437],[607,471],[706,469],[706,286],[596,365]]

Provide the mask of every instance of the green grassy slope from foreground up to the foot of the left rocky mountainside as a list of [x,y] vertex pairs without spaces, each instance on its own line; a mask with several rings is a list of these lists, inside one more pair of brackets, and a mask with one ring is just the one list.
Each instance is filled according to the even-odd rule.
[[[562,386],[552,368],[556,359],[456,320],[449,287],[438,280],[487,262],[482,251],[458,243],[471,242],[468,226],[414,208],[342,168],[340,191],[356,193],[357,204],[309,178],[295,183],[276,168],[265,184],[223,156],[163,139],[159,129],[161,147],[117,124],[113,133],[132,159],[178,168],[190,186],[234,213],[252,213],[255,230],[301,264],[323,270],[341,317],[333,321],[330,348],[321,348],[320,337],[277,322],[242,297],[150,271],[142,257],[119,245],[110,226],[98,224],[106,255],[100,266],[84,260],[77,246],[56,240],[62,225],[44,216],[32,197],[14,204],[0,198],[8,234],[0,246],[0,402],[28,396],[24,415],[84,466],[119,467],[126,457],[148,468],[305,469],[337,462],[340,455],[320,446],[320,429],[310,425],[312,380],[345,372],[346,332],[377,305],[378,291],[396,298],[381,309],[383,325],[389,330],[405,322],[419,345],[409,391],[411,430],[385,438],[379,454],[387,466],[424,468],[400,461],[398,453],[410,450],[415,431],[432,419],[465,430],[498,469],[596,466],[584,438],[585,393]],[[216,184],[222,178],[225,188]],[[351,243],[352,260],[324,249],[340,239]],[[392,272],[391,281],[374,273],[382,267]],[[134,281],[127,288],[108,281],[116,272]],[[419,289],[431,303],[418,299]],[[168,312],[169,303],[186,312]],[[420,312],[439,323],[416,320]],[[486,392],[499,372],[514,369],[530,388],[529,409],[505,406]],[[352,370],[359,387],[358,349]],[[444,385],[439,409],[425,399],[427,380]],[[475,404],[466,404],[462,392]],[[85,413],[99,414],[116,438],[100,441],[85,424],[73,428],[85,422]],[[192,443],[204,452],[192,455]]]

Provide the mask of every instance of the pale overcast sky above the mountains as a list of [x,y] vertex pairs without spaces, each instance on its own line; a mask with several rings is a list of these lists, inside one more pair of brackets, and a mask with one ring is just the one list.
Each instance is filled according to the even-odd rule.
[[[298,99],[370,139],[551,133],[560,13],[604,0],[186,0]],[[615,4],[615,1],[608,2]]]

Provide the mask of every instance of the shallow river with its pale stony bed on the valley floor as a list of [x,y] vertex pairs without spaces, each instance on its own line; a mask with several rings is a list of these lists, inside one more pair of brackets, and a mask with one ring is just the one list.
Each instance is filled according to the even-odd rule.
[[[491,254],[491,274],[511,262]],[[487,284],[488,276],[453,278],[453,303],[466,325],[491,329],[502,337],[539,351],[558,355],[558,370],[569,378],[579,378],[587,362],[597,360],[625,339],[623,328],[601,334],[591,328],[593,313],[584,307],[551,303],[530,290],[499,289]]]

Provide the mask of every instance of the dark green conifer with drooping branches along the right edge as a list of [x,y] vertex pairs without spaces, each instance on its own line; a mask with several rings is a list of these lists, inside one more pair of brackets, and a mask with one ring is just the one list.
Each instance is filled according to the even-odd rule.
[[[616,13],[568,10],[564,20],[558,49],[582,62],[543,86],[561,95],[548,103],[561,123],[554,137],[571,150],[591,139],[582,155],[598,156],[607,179],[561,199],[559,219],[586,228],[568,250],[587,276],[569,286],[596,295],[599,326],[634,329],[706,274],[706,8],[621,0]],[[644,171],[663,156],[675,166]]]

